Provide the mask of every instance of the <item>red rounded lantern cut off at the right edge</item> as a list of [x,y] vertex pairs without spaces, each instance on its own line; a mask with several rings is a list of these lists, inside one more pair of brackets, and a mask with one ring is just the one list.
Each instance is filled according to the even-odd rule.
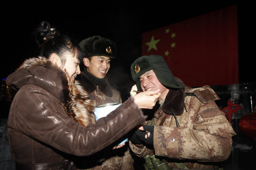
[[245,135],[256,139],[256,111],[242,116],[239,127]]

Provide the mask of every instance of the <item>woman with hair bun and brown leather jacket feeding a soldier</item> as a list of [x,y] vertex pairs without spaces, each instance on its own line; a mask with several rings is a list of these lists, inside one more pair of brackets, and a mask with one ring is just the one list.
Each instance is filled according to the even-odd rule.
[[73,156],[90,156],[121,138],[145,120],[140,109],[152,108],[161,94],[130,97],[92,124],[92,101],[74,80],[80,74],[78,43],[47,22],[35,36],[40,57],[25,60],[6,79],[18,90],[8,117],[12,158],[17,170],[73,170]]

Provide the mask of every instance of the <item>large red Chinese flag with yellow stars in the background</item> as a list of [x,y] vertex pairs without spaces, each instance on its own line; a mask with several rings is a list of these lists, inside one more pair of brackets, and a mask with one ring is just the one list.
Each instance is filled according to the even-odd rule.
[[191,87],[238,83],[237,6],[142,34],[142,55],[162,55]]

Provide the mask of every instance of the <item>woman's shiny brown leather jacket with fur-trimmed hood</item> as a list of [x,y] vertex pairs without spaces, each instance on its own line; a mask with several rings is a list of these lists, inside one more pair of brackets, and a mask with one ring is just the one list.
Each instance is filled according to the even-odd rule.
[[8,118],[12,158],[19,164],[90,156],[145,120],[129,98],[93,125],[92,101],[87,93],[44,57],[26,60],[6,82],[19,89]]

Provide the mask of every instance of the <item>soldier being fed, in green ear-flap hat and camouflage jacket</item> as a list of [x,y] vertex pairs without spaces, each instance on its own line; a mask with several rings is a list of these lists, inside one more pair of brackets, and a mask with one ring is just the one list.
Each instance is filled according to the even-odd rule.
[[142,158],[165,159],[173,170],[218,169],[214,165],[229,157],[236,133],[214,102],[217,94],[209,86],[184,85],[162,56],[139,57],[131,65],[131,75],[139,91],[160,88],[162,94],[153,118],[130,137],[131,150]]

